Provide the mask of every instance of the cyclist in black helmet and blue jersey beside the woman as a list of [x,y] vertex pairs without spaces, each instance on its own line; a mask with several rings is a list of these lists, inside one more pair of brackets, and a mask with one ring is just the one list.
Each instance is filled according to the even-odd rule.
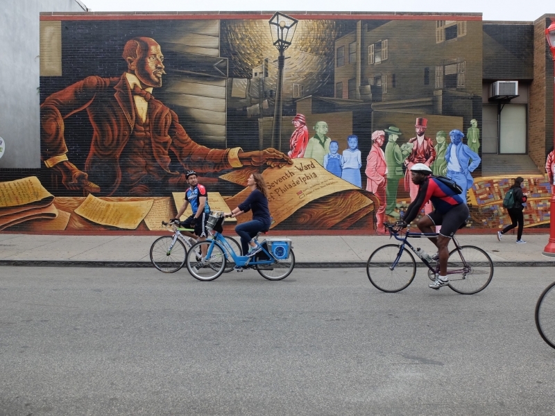
[[[204,241],[208,235],[206,221],[208,220],[208,214],[210,214],[208,192],[203,185],[198,183],[198,177],[195,171],[187,171],[185,177],[187,178],[187,182],[189,182],[189,189],[185,191],[185,201],[179,209],[177,217],[173,218],[172,221],[178,220],[185,212],[185,209],[187,209],[187,205],[191,204],[191,211],[193,211],[193,214],[183,221],[181,226],[185,228],[194,228],[196,235],[187,231],[183,231],[181,234],[189,236],[192,239],[196,239],[198,236],[199,241]],[[203,244],[200,248],[203,250],[203,257],[205,257],[207,245]]]

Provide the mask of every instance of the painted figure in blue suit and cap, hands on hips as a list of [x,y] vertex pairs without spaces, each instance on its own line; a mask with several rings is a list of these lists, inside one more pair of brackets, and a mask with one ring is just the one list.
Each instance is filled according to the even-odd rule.
[[[449,132],[451,143],[445,150],[445,160],[447,160],[447,177],[454,180],[463,189],[461,196],[466,204],[466,191],[472,187],[474,178],[470,175],[481,162],[477,153],[470,150],[463,144],[464,133],[461,130],[451,130]],[[472,159],[472,162],[470,162]],[[470,163],[470,165],[469,165]]]

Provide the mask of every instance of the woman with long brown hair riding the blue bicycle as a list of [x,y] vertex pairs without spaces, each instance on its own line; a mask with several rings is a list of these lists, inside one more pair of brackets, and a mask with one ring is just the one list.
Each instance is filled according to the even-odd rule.
[[226,212],[224,216],[234,218],[250,210],[253,211],[252,220],[235,227],[235,232],[241,237],[241,248],[244,255],[252,257],[262,250],[253,238],[259,232],[270,228],[271,216],[270,209],[268,209],[268,189],[264,177],[260,173],[253,173],[248,177],[247,186],[251,191],[247,199],[231,212]]

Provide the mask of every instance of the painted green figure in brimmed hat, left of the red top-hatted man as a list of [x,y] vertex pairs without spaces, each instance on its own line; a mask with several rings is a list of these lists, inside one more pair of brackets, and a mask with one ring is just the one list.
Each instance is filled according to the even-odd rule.
[[386,184],[386,215],[399,218],[399,213],[395,211],[397,202],[397,189],[399,180],[404,178],[403,162],[411,153],[411,146],[401,146],[397,144],[397,139],[402,135],[401,130],[391,125],[384,130],[388,134],[385,157],[387,165],[387,184]]

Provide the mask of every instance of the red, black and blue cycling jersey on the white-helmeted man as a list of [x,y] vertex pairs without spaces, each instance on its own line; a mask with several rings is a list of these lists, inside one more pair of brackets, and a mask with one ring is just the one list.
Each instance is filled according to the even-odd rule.
[[[464,196],[466,198],[466,196]],[[456,194],[446,184],[439,182],[434,177],[428,176],[427,179],[420,184],[418,194],[415,200],[407,208],[404,213],[403,220],[410,223],[422,209],[426,202],[432,201],[432,205],[439,214],[445,214],[452,207],[463,204],[463,196]]]

